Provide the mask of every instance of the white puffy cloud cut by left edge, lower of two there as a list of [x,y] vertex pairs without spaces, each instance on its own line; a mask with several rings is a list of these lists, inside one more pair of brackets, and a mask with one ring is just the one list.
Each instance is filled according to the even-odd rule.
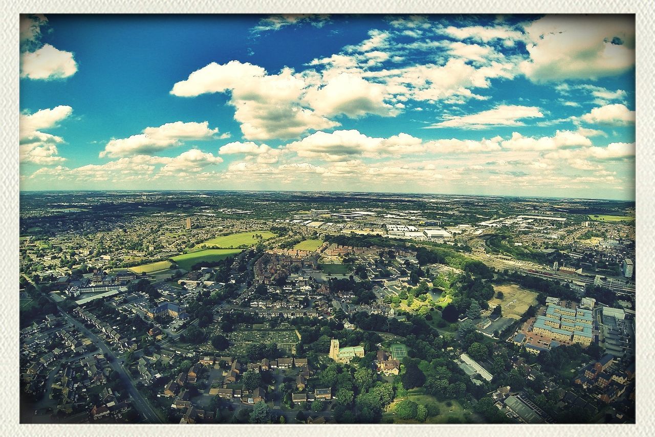
[[65,161],[59,156],[57,144],[63,143],[60,136],[41,132],[58,126],[73,113],[73,108],[59,105],[52,109],[41,109],[35,113],[20,115],[19,141],[20,162],[33,164],[56,164]]

